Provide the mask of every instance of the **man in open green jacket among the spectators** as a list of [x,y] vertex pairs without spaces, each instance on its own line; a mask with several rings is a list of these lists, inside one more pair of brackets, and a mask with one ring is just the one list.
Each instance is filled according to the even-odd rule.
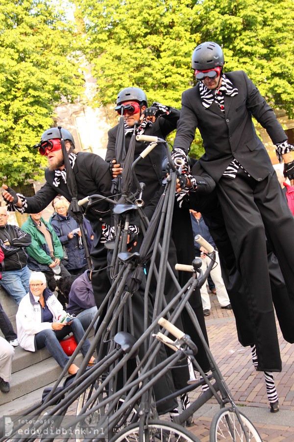
[[42,218],[42,212],[31,213],[22,225],[22,230],[29,233],[32,243],[26,248],[27,265],[30,270],[43,272],[49,280],[54,275],[70,276],[61,260],[63,249],[52,226]]

